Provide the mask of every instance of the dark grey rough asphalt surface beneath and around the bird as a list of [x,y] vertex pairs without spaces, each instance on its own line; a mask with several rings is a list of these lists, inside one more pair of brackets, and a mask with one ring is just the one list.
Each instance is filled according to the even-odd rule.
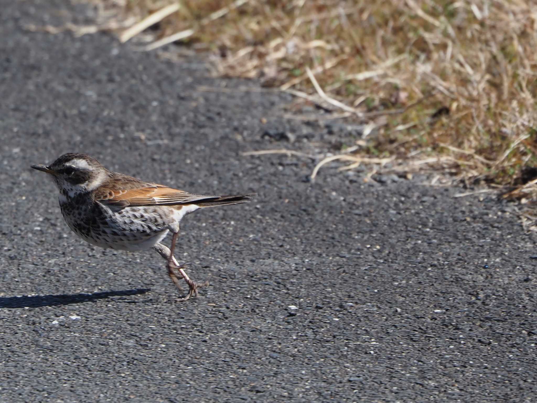
[[[0,401],[535,401],[537,250],[511,206],[241,156],[334,135],[197,59],[24,28],[81,23],[84,6],[1,3]],[[259,193],[183,221],[178,260],[211,281],[197,299],[175,301],[155,252],[69,231],[30,165],[73,151],[191,192]]]

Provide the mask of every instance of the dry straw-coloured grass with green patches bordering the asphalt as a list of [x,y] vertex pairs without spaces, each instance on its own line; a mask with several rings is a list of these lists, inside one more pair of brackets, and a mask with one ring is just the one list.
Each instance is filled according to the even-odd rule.
[[[116,0],[146,18],[174,3]],[[342,162],[450,161],[466,181],[537,177],[537,4],[524,0],[183,0],[157,39],[187,32],[223,76],[259,78],[364,125]],[[117,11],[117,10],[116,10]],[[173,38],[173,37],[172,37]],[[365,141],[364,141],[365,139]],[[352,156],[355,160],[352,160]],[[434,162],[432,162],[434,163]]]

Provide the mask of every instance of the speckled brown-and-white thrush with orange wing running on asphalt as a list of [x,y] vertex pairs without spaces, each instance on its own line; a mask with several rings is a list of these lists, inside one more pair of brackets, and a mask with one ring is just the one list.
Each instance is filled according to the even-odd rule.
[[[60,191],[60,210],[67,225],[79,238],[101,248],[137,251],[153,248],[166,260],[168,275],[180,293],[177,273],[188,285],[180,301],[198,296],[197,283],[187,276],[173,256],[179,222],[199,208],[249,202],[256,193],[231,196],[195,195],[106,169],[84,153],[67,153],[52,164],[32,165],[46,172]],[[171,246],[162,241],[172,233]]]

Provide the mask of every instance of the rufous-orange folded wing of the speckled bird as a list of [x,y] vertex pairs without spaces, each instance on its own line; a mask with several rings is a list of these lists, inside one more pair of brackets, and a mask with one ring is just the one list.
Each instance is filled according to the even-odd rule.
[[[155,183],[142,183],[134,189],[113,189],[103,186],[95,194],[97,202],[118,207],[191,204],[200,200],[210,201],[218,196],[192,195],[184,190],[172,189]],[[130,187],[130,186],[129,186]]]

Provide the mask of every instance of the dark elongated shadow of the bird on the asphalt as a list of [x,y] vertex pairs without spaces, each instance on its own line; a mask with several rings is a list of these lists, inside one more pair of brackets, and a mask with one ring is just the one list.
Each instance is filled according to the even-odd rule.
[[[0,297],[0,308],[39,308],[42,306],[58,306],[79,304],[88,301],[96,301],[98,299],[106,299],[110,297],[126,297],[131,295],[145,294],[151,291],[147,289],[122,290],[122,291],[104,291],[95,292],[93,294],[60,294],[60,295],[43,295],[32,297]],[[124,301],[135,303],[135,301]]]

